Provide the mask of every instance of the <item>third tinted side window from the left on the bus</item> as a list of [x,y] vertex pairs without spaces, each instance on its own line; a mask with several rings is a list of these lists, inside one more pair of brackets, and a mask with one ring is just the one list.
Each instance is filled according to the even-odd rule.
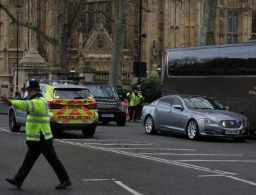
[[217,75],[245,75],[249,46],[220,48]]

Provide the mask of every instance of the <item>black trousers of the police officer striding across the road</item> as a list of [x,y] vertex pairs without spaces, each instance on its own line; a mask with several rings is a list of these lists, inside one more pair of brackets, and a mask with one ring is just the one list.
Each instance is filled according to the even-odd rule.
[[[22,167],[20,167],[20,170],[15,175],[15,180],[17,180],[22,184],[26,176],[28,176],[28,173],[32,169],[36,159],[42,153],[46,158],[46,160],[53,167],[55,173],[59,178],[59,181],[61,183],[69,181],[69,176],[67,175],[67,171],[65,170],[61,161],[57,157],[57,153],[55,152],[55,149],[53,147],[53,141],[52,140],[45,141],[44,139],[42,139],[42,137],[40,140],[41,141],[38,143],[36,142],[34,146],[28,145],[28,152],[26,153],[26,157],[24,159]],[[43,171],[43,170],[40,169],[40,171]]]

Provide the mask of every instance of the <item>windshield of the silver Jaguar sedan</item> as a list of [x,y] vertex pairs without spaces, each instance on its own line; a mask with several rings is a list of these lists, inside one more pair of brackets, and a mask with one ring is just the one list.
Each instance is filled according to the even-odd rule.
[[183,97],[183,100],[187,108],[192,109],[217,109],[217,110],[226,110],[220,102],[209,97],[195,97],[188,96]]

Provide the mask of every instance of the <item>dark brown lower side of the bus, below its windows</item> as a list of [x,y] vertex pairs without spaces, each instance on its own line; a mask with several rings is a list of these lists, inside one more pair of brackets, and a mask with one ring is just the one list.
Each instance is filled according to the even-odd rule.
[[167,77],[162,95],[205,95],[220,100],[232,112],[244,114],[256,130],[256,78],[253,77]]

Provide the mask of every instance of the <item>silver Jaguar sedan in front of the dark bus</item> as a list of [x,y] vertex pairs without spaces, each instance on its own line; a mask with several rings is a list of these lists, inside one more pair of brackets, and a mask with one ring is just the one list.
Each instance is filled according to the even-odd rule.
[[141,122],[146,133],[177,132],[190,140],[199,137],[232,137],[245,141],[249,137],[249,120],[211,97],[168,95],[143,106]]

